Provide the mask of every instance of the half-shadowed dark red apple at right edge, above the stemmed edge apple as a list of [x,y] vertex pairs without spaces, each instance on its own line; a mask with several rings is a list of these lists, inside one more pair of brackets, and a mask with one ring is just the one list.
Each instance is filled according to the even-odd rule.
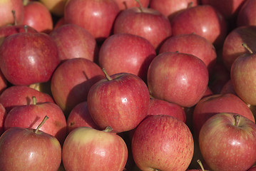
[[229,71],[238,56],[250,53],[242,43],[246,43],[253,52],[256,52],[255,40],[256,26],[240,26],[227,34],[222,48],[222,61]]

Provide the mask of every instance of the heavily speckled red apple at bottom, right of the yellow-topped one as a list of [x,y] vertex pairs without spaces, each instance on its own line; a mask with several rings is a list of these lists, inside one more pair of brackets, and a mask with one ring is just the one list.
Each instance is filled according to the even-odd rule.
[[170,115],[145,118],[135,129],[131,147],[135,164],[145,171],[186,170],[194,151],[188,126]]

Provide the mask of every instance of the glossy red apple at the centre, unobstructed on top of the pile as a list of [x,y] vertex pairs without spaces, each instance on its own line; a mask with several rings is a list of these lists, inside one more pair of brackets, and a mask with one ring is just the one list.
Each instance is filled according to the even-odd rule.
[[145,82],[132,73],[116,73],[95,83],[87,104],[96,125],[121,133],[133,130],[148,114],[150,94]]

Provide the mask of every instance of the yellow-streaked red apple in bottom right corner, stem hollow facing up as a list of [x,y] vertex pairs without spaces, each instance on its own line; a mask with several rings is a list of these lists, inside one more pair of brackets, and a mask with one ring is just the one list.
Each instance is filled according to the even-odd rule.
[[199,146],[211,170],[248,170],[256,162],[256,125],[237,113],[218,113],[204,123]]

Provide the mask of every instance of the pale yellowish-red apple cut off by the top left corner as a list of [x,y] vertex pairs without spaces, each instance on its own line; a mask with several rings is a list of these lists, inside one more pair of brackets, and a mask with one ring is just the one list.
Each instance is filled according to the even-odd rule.
[[24,19],[24,5],[21,0],[9,0],[0,2],[0,26],[14,24],[14,16],[11,11],[16,12],[16,24],[22,24]]

